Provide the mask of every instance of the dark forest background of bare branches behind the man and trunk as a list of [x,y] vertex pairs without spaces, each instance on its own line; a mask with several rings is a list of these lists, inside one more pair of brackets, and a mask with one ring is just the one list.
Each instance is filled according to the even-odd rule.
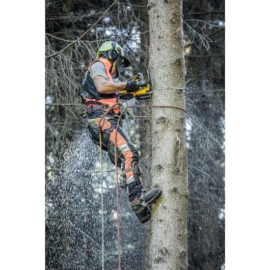
[[[82,232],[76,235],[71,233],[73,230],[78,232],[78,229],[84,233],[96,232],[94,228],[98,227],[96,226],[98,221],[95,221],[91,213],[98,212],[99,205],[90,203],[86,196],[82,196],[82,190],[85,189],[85,194],[89,198],[99,201],[98,198],[93,197],[95,194],[98,196],[98,160],[93,158],[98,153],[90,154],[94,161],[93,165],[86,162],[86,156],[89,155],[92,147],[89,140],[82,135],[85,134],[85,120],[79,117],[84,109],[78,97],[84,73],[95,59],[97,47],[111,39],[124,47],[130,59],[136,60],[132,61],[132,65],[123,73],[121,80],[138,71],[145,71],[149,63],[149,26],[148,18],[145,16],[147,2],[113,3],[46,1],[46,260],[50,263],[48,268],[56,267],[61,260],[65,262],[62,265],[64,267],[73,265],[74,260],[72,261],[71,258],[76,258],[76,254],[81,252],[86,252],[87,256],[84,262],[82,260],[76,262],[76,267],[78,263],[88,265],[91,260],[93,262],[98,258],[98,256],[93,256],[92,259],[88,257],[89,250],[94,250],[95,247],[90,238],[84,235],[89,241],[86,242]],[[110,9],[107,10],[108,8]],[[183,0],[183,13],[185,80],[188,88],[184,93],[188,112],[186,114],[189,190],[188,267],[220,269],[223,267],[225,256],[224,3],[203,1],[198,5],[196,1]],[[87,34],[79,39],[86,32]],[[73,45],[67,47],[71,44]],[[50,57],[52,55],[54,56]],[[155,74],[151,75],[154,78]],[[147,109],[133,110],[133,114],[143,116],[149,115],[149,112]],[[151,161],[150,124],[151,121],[148,119],[124,121],[125,128],[134,134],[131,139],[142,155],[141,169],[148,186],[151,184],[150,164],[146,162],[146,160]],[[142,131],[138,128],[142,128]],[[77,141],[81,144],[74,148]],[[74,149],[79,149],[81,154],[77,154],[77,158],[72,159],[73,167],[69,168],[67,156],[70,155],[69,151],[74,152]],[[70,163],[68,164],[70,166]],[[75,164],[78,164],[78,167],[74,166]],[[108,186],[114,184],[113,173],[110,174],[112,169],[106,168]],[[87,182],[90,180],[94,183],[93,186],[88,185]],[[76,181],[79,183],[76,184]],[[106,196],[109,196],[112,201],[115,198],[114,188],[106,188]],[[57,194],[58,196],[55,197]],[[66,197],[69,197],[68,201]],[[86,203],[82,199],[86,199]],[[76,209],[68,205],[76,206]],[[86,209],[85,206],[88,208]],[[115,205],[106,207],[115,209]],[[124,209],[121,213],[132,215],[130,210]],[[73,215],[72,211],[78,215]],[[84,211],[86,211],[87,221],[81,223],[79,217],[83,217],[79,214]],[[113,212],[108,214],[106,218],[108,224],[110,220],[113,221],[113,214]],[[127,217],[122,218],[125,220]],[[92,225],[87,225],[87,222]],[[138,251],[135,252],[134,260],[131,260],[134,269],[136,267],[141,269],[138,263],[139,265],[143,263],[144,258],[147,260],[147,252],[143,253],[142,257],[138,254],[142,246],[146,250],[149,247],[149,238],[144,234],[149,229],[149,224],[146,224],[140,227],[139,231],[134,232],[135,236],[139,235],[135,247],[132,246],[131,238],[124,240],[123,247],[127,251],[125,254]],[[71,236],[72,243],[67,245]],[[121,239],[125,238],[121,237]],[[146,241],[143,242],[142,239]],[[80,250],[80,243],[86,245],[88,250]],[[139,246],[140,249],[137,250]],[[115,247],[112,246],[114,252],[116,252]],[[117,257],[114,252],[110,251],[110,258]],[[142,261],[138,262],[136,258]],[[148,267],[147,264],[143,265]]]

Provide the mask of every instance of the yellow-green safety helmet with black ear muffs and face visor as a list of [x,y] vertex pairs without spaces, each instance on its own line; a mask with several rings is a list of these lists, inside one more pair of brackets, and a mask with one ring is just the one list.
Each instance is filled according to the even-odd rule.
[[130,65],[129,59],[124,56],[122,47],[114,41],[106,41],[100,46],[97,51],[97,57],[100,58],[103,56],[112,63],[110,72],[112,71],[114,62],[116,61],[116,72],[112,74],[113,78],[118,78],[122,68]]

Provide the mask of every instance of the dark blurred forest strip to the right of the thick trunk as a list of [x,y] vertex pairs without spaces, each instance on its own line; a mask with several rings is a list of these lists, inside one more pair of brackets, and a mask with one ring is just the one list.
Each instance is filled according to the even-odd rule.
[[224,2],[183,1],[183,10],[190,125],[188,262],[190,269],[221,269],[225,261]]

